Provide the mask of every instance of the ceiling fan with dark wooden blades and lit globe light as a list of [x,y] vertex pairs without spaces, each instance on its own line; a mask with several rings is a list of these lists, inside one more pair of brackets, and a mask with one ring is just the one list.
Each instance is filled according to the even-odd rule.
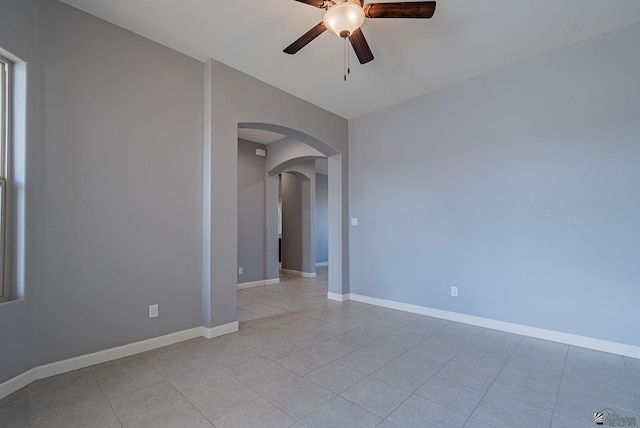
[[[327,29],[343,39],[348,38],[360,61],[366,64],[373,60],[373,53],[360,27],[365,18],[431,18],[436,10],[435,1],[370,3],[362,0],[295,0],[319,9],[325,9],[322,22],[307,31],[298,40],[284,49],[295,54]],[[346,79],[346,78],[345,78]]]

